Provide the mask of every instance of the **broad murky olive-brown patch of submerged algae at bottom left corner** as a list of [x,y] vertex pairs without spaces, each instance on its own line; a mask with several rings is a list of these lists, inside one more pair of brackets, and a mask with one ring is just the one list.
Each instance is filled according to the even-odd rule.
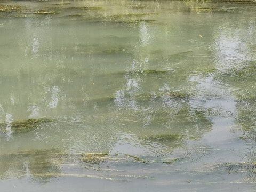
[[[59,164],[61,160],[57,155],[59,151],[54,149],[13,151],[0,155],[1,175],[5,178],[17,175],[18,178],[25,177],[27,171],[33,181],[47,183],[51,177],[38,177],[38,174],[61,172]],[[26,169],[25,169],[26,168]],[[3,172],[4,171],[4,172]]]

